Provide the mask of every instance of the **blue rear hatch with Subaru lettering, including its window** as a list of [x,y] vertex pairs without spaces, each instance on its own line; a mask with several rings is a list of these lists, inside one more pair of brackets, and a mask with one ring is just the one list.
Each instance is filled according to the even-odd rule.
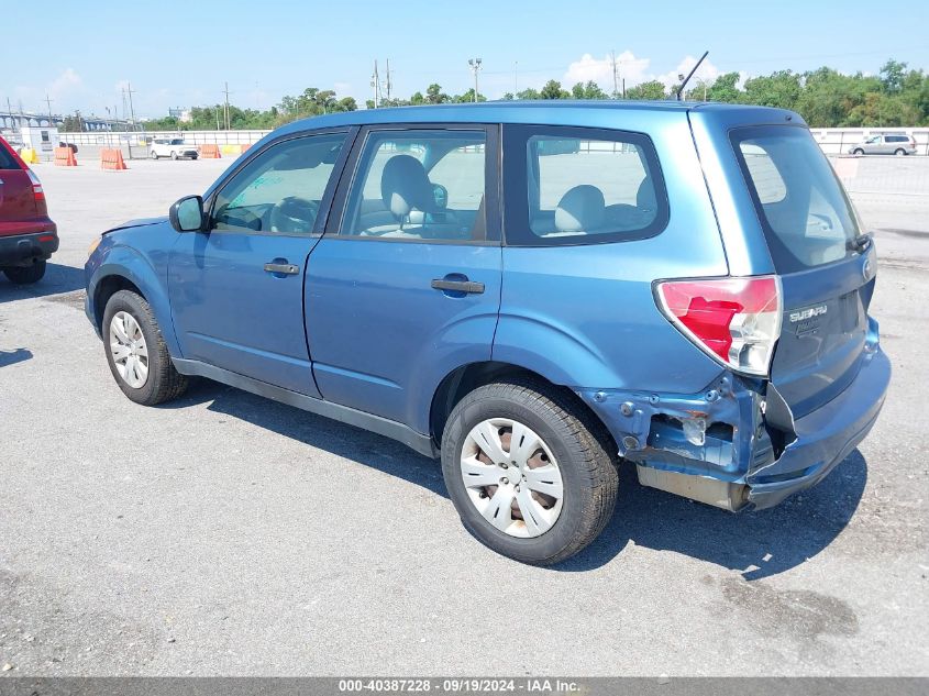
[[737,128],[730,140],[783,288],[771,380],[799,418],[858,375],[876,262],[806,128]]

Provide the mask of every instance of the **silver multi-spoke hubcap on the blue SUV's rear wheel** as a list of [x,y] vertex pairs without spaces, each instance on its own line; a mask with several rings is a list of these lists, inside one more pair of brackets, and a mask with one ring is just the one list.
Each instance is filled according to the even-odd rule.
[[562,474],[549,445],[509,418],[475,426],[462,448],[462,479],[477,511],[511,537],[539,537],[562,511]]

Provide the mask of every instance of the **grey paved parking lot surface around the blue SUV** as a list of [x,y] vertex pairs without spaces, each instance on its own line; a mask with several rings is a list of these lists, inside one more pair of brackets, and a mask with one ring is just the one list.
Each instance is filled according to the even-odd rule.
[[895,371],[871,437],[761,512],[623,468],[611,523],[555,568],[478,544],[398,443],[204,380],[161,408],[122,395],[87,246],[229,164],[36,167],[62,248],[38,285],[0,279],[9,674],[929,674],[929,191],[900,194],[895,161],[853,195]]

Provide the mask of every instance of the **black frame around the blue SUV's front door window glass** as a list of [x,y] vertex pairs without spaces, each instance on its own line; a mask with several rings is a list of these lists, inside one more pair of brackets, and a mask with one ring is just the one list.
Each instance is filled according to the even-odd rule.
[[[316,129],[316,130],[308,130],[308,131],[300,131],[297,133],[288,133],[286,135],[281,135],[279,137],[275,137],[272,141],[268,141],[261,148],[255,150],[252,152],[250,150],[248,155],[245,157],[241,157],[241,162],[235,164],[235,168],[229,172],[225,177],[217,181],[213,185],[212,189],[208,191],[208,197],[204,203],[204,208],[208,211],[207,216],[207,234],[250,234],[255,236],[276,236],[276,237],[299,237],[299,239],[319,239],[322,236],[323,230],[325,229],[325,224],[329,221],[329,216],[332,214],[332,201],[335,197],[336,186],[339,180],[342,176],[342,172],[345,167],[345,162],[349,158],[349,155],[352,151],[352,146],[355,142],[355,137],[358,134],[358,126],[335,126],[335,128],[325,128],[325,129]],[[329,181],[325,185],[325,190],[323,191],[322,199],[320,200],[319,206],[319,213],[317,214],[317,219],[313,223],[313,229],[310,233],[301,233],[301,232],[272,232],[269,230],[253,230],[251,228],[233,228],[231,230],[217,230],[213,225],[213,213],[215,211],[215,203],[218,195],[232,183],[236,176],[250,164],[252,164],[256,158],[264,155],[268,152],[272,147],[276,147],[277,145],[281,145],[284,143],[288,143],[296,140],[302,140],[305,137],[314,137],[318,135],[345,135],[345,142],[342,145],[342,150],[339,153],[339,157],[335,159],[335,164],[332,167],[332,174],[329,176]]]

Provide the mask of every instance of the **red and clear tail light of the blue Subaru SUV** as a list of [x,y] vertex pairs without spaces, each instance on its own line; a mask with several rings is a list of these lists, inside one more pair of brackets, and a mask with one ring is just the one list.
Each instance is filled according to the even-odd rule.
[[732,369],[767,375],[781,335],[777,276],[668,280],[657,285],[667,318]]

